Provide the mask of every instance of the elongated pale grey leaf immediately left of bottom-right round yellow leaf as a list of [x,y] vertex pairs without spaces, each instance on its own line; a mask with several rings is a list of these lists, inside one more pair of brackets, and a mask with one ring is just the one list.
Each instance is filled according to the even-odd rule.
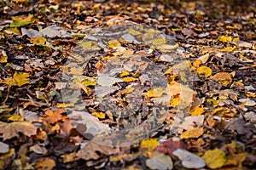
[[206,166],[206,161],[187,150],[177,149],[172,154],[182,161],[183,167],[201,168]]

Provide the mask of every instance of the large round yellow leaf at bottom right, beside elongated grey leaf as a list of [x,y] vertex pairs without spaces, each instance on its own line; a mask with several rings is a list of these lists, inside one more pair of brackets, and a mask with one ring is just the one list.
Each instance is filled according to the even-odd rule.
[[223,167],[226,162],[226,155],[223,150],[207,150],[202,158],[207,162],[207,167],[216,169]]

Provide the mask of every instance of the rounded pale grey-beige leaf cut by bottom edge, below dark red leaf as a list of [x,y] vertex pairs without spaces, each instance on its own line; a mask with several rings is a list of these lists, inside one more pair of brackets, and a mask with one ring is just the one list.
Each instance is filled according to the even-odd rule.
[[150,169],[167,170],[173,168],[171,157],[164,154],[157,154],[156,156],[146,160],[146,165]]

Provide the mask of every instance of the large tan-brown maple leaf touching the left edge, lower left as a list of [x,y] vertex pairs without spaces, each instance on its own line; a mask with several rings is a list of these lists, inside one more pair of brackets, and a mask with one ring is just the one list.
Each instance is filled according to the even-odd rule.
[[0,122],[0,133],[3,133],[4,140],[19,137],[19,133],[30,137],[37,134],[37,129],[32,122]]

